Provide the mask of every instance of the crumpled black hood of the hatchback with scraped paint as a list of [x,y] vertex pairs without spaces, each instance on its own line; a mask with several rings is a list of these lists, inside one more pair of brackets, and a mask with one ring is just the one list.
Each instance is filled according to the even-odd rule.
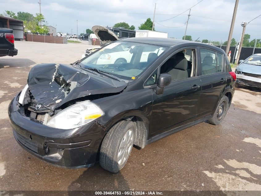
[[75,65],[39,64],[29,72],[27,83],[33,97],[54,111],[62,104],[91,94],[118,93],[127,83],[96,76]]

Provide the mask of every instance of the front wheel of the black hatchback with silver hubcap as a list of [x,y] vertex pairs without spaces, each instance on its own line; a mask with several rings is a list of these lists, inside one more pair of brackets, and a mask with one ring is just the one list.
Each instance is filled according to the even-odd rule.
[[99,155],[100,166],[109,172],[119,172],[129,158],[135,134],[136,125],[133,121],[123,120],[115,124],[103,139]]

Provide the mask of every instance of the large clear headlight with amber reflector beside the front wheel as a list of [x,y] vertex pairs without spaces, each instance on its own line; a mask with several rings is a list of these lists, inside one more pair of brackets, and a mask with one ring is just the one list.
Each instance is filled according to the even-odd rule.
[[77,128],[104,115],[104,112],[90,100],[76,103],[59,112],[46,124],[49,127]]

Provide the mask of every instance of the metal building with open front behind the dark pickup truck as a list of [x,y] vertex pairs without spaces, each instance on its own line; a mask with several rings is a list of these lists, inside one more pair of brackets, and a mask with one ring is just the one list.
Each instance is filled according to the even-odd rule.
[[24,39],[23,20],[0,16],[0,27],[13,29],[15,39]]

